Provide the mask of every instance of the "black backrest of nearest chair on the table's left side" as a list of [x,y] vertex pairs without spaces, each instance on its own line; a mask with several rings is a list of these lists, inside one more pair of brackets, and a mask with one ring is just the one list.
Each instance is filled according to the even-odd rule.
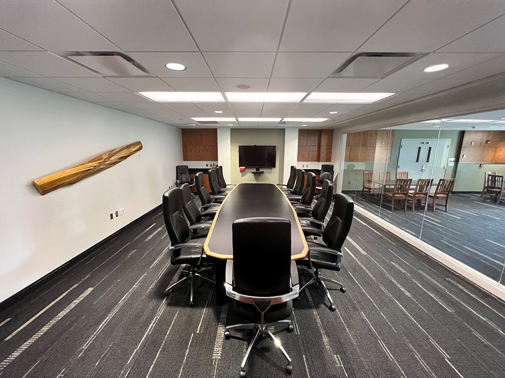
[[189,239],[189,226],[182,209],[182,191],[173,187],[163,194],[163,218],[172,245]]

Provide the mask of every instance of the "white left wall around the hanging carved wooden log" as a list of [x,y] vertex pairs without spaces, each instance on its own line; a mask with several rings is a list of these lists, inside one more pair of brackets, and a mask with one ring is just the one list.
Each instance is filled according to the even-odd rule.
[[[182,160],[169,125],[4,78],[0,114],[0,301],[160,205]],[[32,185],[135,141],[139,153],[74,185]]]

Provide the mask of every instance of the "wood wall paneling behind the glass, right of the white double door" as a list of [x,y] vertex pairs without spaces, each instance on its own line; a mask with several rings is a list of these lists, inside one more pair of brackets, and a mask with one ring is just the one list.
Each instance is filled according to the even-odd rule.
[[505,163],[505,131],[465,131],[460,162]]

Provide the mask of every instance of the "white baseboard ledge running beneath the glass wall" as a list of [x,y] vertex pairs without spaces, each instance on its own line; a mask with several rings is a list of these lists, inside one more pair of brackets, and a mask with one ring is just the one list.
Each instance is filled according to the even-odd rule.
[[482,273],[476,271],[475,269],[463,264],[461,261],[456,260],[443,253],[440,249],[422,241],[409,234],[406,231],[392,225],[391,223],[379,218],[377,215],[365,210],[360,206],[355,206],[355,210],[370,219],[371,221],[377,223],[379,226],[390,231],[399,238],[407,241],[416,248],[423,251],[426,255],[430,256],[432,259],[436,260],[440,264],[444,265],[448,269],[456,272],[457,274],[465,277],[467,280],[471,281],[473,284],[477,285],[481,289],[484,289],[488,293],[500,298],[505,301],[505,286],[499,284],[498,282],[490,279],[489,277],[483,275]]

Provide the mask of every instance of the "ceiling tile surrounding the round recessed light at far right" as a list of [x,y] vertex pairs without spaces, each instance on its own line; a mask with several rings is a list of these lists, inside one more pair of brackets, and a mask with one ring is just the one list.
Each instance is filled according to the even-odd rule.
[[[387,79],[440,79],[497,56],[499,54],[434,52],[389,75]],[[437,72],[423,71],[439,64],[448,64],[449,68]]]

